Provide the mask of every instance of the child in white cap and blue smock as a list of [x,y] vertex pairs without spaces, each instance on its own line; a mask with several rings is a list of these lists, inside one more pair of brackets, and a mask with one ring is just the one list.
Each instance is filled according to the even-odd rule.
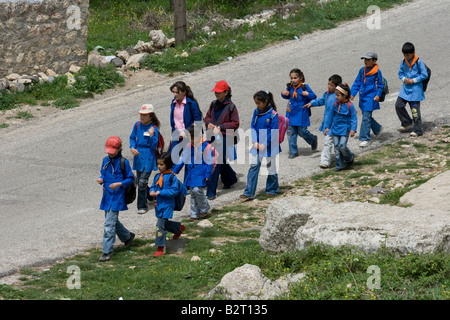
[[[156,167],[156,149],[159,141],[160,122],[151,104],[144,104],[138,111],[140,121],[136,122],[130,135],[130,150],[133,154],[133,170],[138,180],[138,214],[148,210],[148,180]],[[152,200],[150,198],[150,200]]]

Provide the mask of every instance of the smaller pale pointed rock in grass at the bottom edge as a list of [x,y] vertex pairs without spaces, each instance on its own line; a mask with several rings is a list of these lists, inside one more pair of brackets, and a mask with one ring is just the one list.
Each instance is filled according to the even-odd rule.
[[227,300],[267,300],[287,292],[289,285],[304,277],[303,273],[288,275],[275,281],[264,276],[261,269],[245,264],[223,276],[220,283],[206,296],[221,295]]

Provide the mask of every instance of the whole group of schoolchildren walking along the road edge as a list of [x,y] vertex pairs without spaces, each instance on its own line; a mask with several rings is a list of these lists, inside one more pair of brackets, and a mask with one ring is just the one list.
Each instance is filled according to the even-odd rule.
[[[424,100],[422,81],[428,78],[427,69],[416,55],[414,45],[405,43],[402,47],[404,59],[400,64],[399,78],[403,82],[402,89],[395,104],[397,115],[401,121],[400,131],[413,126],[411,136],[423,134],[420,101]],[[349,137],[357,131],[357,113],[353,104],[359,93],[359,108],[362,111],[362,122],[359,133],[360,147],[366,147],[371,140],[370,133],[379,136],[383,127],[373,118],[373,111],[380,108],[385,83],[377,64],[375,52],[368,52],[361,57],[362,67],[351,87],[343,83],[339,75],[328,79],[328,90],[318,98],[305,83],[305,76],[300,69],[290,72],[290,83],[281,97],[289,100],[286,118],[289,119],[287,131],[289,156],[298,156],[297,137],[302,137],[312,150],[317,149],[317,136],[308,131],[310,126],[310,108],[325,106],[324,119],[319,127],[325,135],[321,154],[320,167],[328,168],[332,162],[334,147],[335,170],[343,170],[353,164],[354,154],[347,146]],[[178,239],[185,230],[180,222],[171,221],[175,208],[175,196],[179,190],[178,174],[185,167],[183,184],[191,195],[191,220],[205,217],[210,211],[208,200],[216,197],[219,175],[224,188],[231,188],[237,182],[236,173],[227,163],[236,159],[236,136],[230,135],[239,127],[239,114],[231,101],[231,88],[225,81],[216,83],[214,100],[203,118],[198,102],[186,83],[176,82],[170,90],[174,94],[171,104],[170,121],[172,137],[167,152],[157,154],[160,141],[160,122],[152,105],[143,105],[139,110],[140,121],[133,126],[130,135],[130,149],[133,154],[133,167],[127,159],[122,158],[122,141],[110,137],[106,142],[105,157],[101,167],[101,177],[97,179],[103,185],[103,198],[100,209],[105,211],[103,237],[103,255],[100,261],[107,261],[113,253],[115,235],[131,245],[135,235],[129,232],[119,221],[119,212],[127,210],[124,199],[125,188],[134,181],[132,170],[136,171],[138,181],[137,206],[138,213],[148,210],[148,202],[154,201],[157,217],[157,234],[154,256],[164,254],[166,233],[173,233]],[[255,197],[258,176],[262,163],[267,167],[266,194],[269,197],[278,194],[277,155],[281,152],[279,140],[272,137],[279,129],[279,114],[273,94],[258,91],[253,96],[256,108],[251,121],[252,148],[251,165],[247,175],[247,185],[240,196],[244,200]],[[405,107],[409,103],[412,118]],[[207,139],[204,137],[202,123],[205,124]],[[212,134],[211,134],[212,132]],[[209,133],[209,136],[208,136]],[[233,143],[226,143],[234,139]],[[212,142],[215,140],[214,146]],[[220,158],[222,161],[217,161]],[[148,180],[152,171],[159,171],[151,186]],[[206,194],[203,188],[207,188]]]

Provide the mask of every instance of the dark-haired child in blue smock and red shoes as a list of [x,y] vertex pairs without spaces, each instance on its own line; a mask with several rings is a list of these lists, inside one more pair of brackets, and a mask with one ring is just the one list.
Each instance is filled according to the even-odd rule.
[[156,197],[155,215],[156,222],[156,253],[153,257],[164,254],[166,248],[167,231],[173,233],[172,239],[178,239],[186,230],[180,222],[171,221],[175,208],[175,197],[180,192],[179,181],[175,177],[171,168],[173,167],[170,152],[163,152],[156,160],[159,173],[155,175],[150,188],[150,195]]

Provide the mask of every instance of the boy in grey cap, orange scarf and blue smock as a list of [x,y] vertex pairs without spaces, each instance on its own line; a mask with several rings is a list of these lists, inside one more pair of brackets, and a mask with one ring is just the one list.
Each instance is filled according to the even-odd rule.
[[383,93],[383,76],[378,67],[378,55],[375,52],[367,52],[364,59],[364,67],[361,68],[352,85],[350,100],[353,101],[359,92],[359,108],[362,111],[361,128],[359,131],[359,146],[367,147],[370,144],[370,130],[375,137],[379,137],[383,126],[374,118],[373,111],[380,109],[380,97]]

